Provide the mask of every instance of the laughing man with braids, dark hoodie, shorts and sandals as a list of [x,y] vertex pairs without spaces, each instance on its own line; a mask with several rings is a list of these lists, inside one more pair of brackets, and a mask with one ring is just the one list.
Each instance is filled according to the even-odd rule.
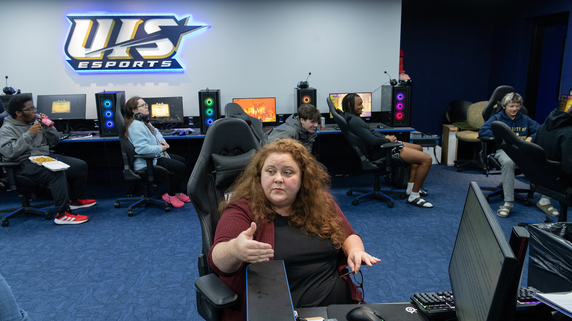
[[[359,117],[363,110],[362,97],[359,97],[358,94],[345,95],[341,99],[341,108],[344,111],[344,118],[348,123],[349,130],[366,141],[370,159],[376,160],[385,157],[386,155],[379,146],[384,143],[396,142],[397,138],[370,129],[366,122]],[[407,203],[422,208],[432,208],[433,205],[422,198],[422,196],[427,196],[427,192],[419,191],[431,168],[433,161],[431,156],[423,153],[423,147],[407,142],[403,142],[402,149],[394,150],[393,155],[411,164],[406,191],[409,195]]]

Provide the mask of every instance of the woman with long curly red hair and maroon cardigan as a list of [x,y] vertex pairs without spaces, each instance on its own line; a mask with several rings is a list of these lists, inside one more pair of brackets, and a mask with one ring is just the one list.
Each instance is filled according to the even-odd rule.
[[[363,301],[349,272],[380,262],[364,251],[328,193],[329,176],[299,142],[263,146],[231,187],[209,251],[209,265],[239,295],[223,320],[246,320],[249,263],[284,260],[294,307]],[[344,276],[342,276],[344,275]]]

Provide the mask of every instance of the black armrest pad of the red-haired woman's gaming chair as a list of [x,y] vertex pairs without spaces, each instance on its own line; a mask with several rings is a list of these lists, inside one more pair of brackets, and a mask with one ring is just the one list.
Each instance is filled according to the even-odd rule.
[[226,308],[236,303],[239,296],[215,274],[207,274],[194,280],[194,286],[216,308]]

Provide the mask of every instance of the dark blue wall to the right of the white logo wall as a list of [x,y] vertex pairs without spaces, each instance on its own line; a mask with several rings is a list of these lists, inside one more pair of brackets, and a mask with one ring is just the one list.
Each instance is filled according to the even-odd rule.
[[[448,102],[488,101],[501,85],[524,96],[529,18],[563,11],[572,11],[572,2],[403,0],[403,65],[414,87],[411,126],[440,134]],[[572,88],[572,19],[567,34],[562,93]]]

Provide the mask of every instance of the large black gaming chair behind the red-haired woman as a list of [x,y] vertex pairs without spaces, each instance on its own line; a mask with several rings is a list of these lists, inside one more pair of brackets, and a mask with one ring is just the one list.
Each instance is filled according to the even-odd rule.
[[[228,106],[228,105],[227,105]],[[201,223],[202,252],[198,255],[197,311],[205,320],[221,319],[223,308],[237,302],[237,295],[213,274],[209,249],[219,223],[217,208],[228,188],[250,162],[259,142],[246,122],[221,118],[210,125],[187,185],[188,195]]]

